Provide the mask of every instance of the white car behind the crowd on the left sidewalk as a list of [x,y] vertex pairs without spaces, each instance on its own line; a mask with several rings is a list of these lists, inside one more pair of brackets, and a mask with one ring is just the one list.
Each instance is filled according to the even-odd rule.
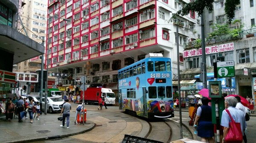
[[[47,111],[52,114],[53,112],[60,112],[64,101],[59,97],[47,97]],[[42,110],[44,110],[45,102],[42,98]]]

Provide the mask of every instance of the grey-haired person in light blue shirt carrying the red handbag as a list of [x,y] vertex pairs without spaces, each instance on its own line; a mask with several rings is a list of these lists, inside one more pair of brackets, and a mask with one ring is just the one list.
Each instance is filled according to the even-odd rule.
[[[241,126],[241,133],[244,136],[244,130],[246,128],[246,122],[244,118],[244,113],[236,108],[236,104],[238,103],[237,99],[233,96],[225,98],[225,108],[229,110],[230,115],[234,119],[236,123],[240,123]],[[224,127],[224,135],[222,139],[222,143],[225,143],[225,137],[227,135],[227,132],[229,130],[229,122],[231,122],[231,118],[228,115],[226,110],[223,110],[222,116],[221,116],[221,126]]]

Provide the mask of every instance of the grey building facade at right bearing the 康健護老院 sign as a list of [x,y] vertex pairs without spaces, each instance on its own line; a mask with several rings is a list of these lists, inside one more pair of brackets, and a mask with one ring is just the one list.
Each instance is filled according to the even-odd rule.
[[[237,36],[221,35],[209,38],[211,28],[215,23],[223,25],[227,24],[227,17],[224,12],[225,0],[219,0],[213,3],[213,11],[206,11],[204,14],[205,35],[206,35],[206,65],[208,81],[213,80],[213,60],[217,62],[234,61],[235,76],[231,78],[223,78],[220,80],[223,93],[232,93],[249,96],[255,99],[255,81],[253,81],[256,69],[256,1],[241,1],[241,5],[236,7],[234,20],[240,20],[233,24],[228,24],[230,29],[239,28],[243,25],[243,31]],[[250,36],[248,36],[250,35]],[[207,38],[208,37],[208,38]],[[197,41],[187,42],[184,45],[184,70],[181,77],[184,80],[196,79],[200,81],[201,73],[201,43]],[[194,81],[196,82],[196,81]],[[190,83],[193,85],[194,83]],[[192,86],[193,87],[193,86]],[[191,90],[198,92],[198,87],[186,90],[187,94]]]

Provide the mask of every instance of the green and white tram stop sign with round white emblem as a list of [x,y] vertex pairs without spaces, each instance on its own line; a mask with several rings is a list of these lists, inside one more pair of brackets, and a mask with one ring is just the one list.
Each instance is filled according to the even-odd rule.
[[235,62],[234,61],[217,62],[217,75],[218,75],[218,78],[234,77]]

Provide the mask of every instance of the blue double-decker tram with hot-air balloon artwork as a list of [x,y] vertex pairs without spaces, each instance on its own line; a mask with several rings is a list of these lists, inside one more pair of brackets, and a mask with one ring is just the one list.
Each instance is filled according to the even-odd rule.
[[119,109],[145,118],[174,117],[171,59],[149,53],[118,70]]

